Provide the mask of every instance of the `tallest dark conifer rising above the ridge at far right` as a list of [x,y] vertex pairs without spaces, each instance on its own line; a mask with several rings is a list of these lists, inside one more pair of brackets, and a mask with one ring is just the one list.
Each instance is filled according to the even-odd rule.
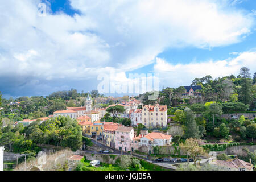
[[242,88],[241,88],[241,101],[243,104],[250,104],[252,100],[251,96],[251,80],[250,80],[250,68],[242,67],[240,75],[242,77]]

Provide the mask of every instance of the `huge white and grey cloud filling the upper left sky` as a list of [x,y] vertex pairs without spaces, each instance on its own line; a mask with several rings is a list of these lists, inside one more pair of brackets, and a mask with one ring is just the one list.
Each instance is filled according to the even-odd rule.
[[81,14],[38,16],[39,0],[1,3],[0,90],[16,95],[71,85],[90,90],[99,73],[144,67],[167,48],[237,43],[254,26],[252,15],[230,7],[232,1],[70,2]]

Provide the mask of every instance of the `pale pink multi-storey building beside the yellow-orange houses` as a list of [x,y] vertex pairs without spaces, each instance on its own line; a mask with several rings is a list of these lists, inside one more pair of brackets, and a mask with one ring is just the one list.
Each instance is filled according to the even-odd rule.
[[115,149],[131,151],[133,138],[133,127],[118,127],[115,131]]

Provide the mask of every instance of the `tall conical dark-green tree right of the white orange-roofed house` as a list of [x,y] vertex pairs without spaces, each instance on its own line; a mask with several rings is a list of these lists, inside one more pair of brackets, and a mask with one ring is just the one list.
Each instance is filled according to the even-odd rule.
[[200,131],[197,123],[195,121],[195,117],[193,111],[189,108],[185,109],[186,119],[185,119],[185,137],[186,138],[200,138]]

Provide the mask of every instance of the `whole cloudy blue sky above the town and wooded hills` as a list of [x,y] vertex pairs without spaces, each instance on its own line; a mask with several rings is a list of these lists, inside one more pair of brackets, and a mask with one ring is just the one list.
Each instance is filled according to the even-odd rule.
[[11,0],[0,12],[5,98],[88,92],[101,73],[117,85],[158,73],[163,88],[256,71],[254,0]]

